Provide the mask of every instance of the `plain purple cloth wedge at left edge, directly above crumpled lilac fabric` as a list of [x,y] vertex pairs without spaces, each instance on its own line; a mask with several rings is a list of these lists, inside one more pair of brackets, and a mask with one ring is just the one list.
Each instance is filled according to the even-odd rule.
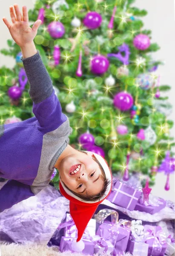
[[17,180],[8,180],[0,189],[0,212],[34,195],[30,185],[20,183]]

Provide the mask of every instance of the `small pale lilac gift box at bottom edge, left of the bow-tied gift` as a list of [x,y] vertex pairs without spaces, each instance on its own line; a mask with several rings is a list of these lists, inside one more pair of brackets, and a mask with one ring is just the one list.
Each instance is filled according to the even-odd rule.
[[129,240],[127,245],[127,252],[131,253],[133,256],[147,256],[149,245],[144,242],[137,242]]

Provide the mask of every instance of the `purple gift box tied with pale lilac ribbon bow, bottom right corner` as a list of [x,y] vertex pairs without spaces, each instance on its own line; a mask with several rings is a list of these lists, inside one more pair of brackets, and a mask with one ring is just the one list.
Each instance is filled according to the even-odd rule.
[[149,245],[148,256],[164,256],[167,247],[167,237],[160,226],[144,226],[145,243]]

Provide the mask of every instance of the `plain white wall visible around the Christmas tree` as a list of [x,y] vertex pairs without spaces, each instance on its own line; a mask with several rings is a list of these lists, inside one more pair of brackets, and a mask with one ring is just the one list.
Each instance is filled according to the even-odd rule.
[[[0,0],[0,49],[7,48],[6,41],[11,38],[9,30],[3,23],[2,18],[5,16],[11,22],[9,14],[9,6],[17,3],[22,11],[22,6],[26,5],[28,10],[33,9],[34,0]],[[169,84],[172,90],[168,93],[169,101],[175,106],[175,18],[174,18],[174,3],[173,0],[136,0],[135,4],[140,9],[146,9],[148,15],[143,17],[146,29],[152,30],[152,42],[157,42],[161,49],[152,54],[155,60],[165,61],[164,66],[158,68],[158,73],[161,74],[161,84]],[[0,66],[5,64],[11,68],[15,64],[15,60],[11,57],[0,54]],[[175,110],[174,110],[175,111]],[[169,118],[175,121],[175,112]],[[171,134],[175,136],[175,128],[171,130]],[[171,175],[169,191],[164,190],[165,176],[163,173],[157,175],[156,184],[152,189],[154,195],[162,198],[175,201],[175,181],[174,175]]]

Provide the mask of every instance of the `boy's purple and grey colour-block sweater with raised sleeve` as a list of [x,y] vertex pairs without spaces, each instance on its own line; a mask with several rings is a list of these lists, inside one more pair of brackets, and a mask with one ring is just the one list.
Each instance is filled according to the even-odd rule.
[[69,144],[72,128],[62,113],[52,80],[40,53],[21,57],[30,84],[34,117],[0,125],[0,212],[45,188],[57,158]]

